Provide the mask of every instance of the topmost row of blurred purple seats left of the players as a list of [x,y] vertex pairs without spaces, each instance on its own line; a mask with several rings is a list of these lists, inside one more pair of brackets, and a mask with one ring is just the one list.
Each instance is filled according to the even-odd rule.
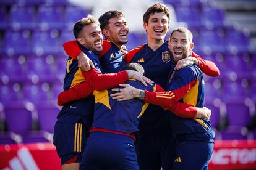
[[8,11],[6,7],[0,7],[0,29],[12,28],[24,29],[61,29],[72,28],[72,25],[80,18],[88,14],[87,10],[79,7],[62,6],[51,7],[42,5],[36,12],[35,6],[13,5]]

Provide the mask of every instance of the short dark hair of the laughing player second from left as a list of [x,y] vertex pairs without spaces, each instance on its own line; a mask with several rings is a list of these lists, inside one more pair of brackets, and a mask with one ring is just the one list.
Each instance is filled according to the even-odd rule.
[[99,22],[100,22],[100,29],[108,29],[109,20],[111,18],[119,18],[124,17],[124,14],[118,10],[109,10],[105,12],[103,15],[100,16]]

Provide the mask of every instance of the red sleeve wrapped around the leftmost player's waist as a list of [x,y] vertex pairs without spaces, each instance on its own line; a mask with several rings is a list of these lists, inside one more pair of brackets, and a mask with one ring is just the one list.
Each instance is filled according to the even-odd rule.
[[93,88],[87,81],[80,83],[77,86],[72,87],[67,91],[63,91],[58,95],[57,104],[64,106],[69,102],[84,99],[93,93]]

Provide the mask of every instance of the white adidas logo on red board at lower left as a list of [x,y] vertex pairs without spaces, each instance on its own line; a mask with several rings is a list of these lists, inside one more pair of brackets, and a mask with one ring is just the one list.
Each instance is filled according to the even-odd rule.
[[4,169],[35,169],[39,170],[35,160],[33,159],[32,155],[28,151],[27,148],[21,148],[17,152],[17,157],[12,158],[9,161],[9,166]]

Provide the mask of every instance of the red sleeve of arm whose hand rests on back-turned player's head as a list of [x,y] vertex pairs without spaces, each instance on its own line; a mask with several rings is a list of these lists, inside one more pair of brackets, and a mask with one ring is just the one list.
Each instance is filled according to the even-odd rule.
[[98,70],[93,68],[89,71],[82,71],[82,74],[86,81],[96,91],[103,91],[114,86],[118,86],[129,79],[126,71],[119,71],[118,73],[111,74],[101,74]]

